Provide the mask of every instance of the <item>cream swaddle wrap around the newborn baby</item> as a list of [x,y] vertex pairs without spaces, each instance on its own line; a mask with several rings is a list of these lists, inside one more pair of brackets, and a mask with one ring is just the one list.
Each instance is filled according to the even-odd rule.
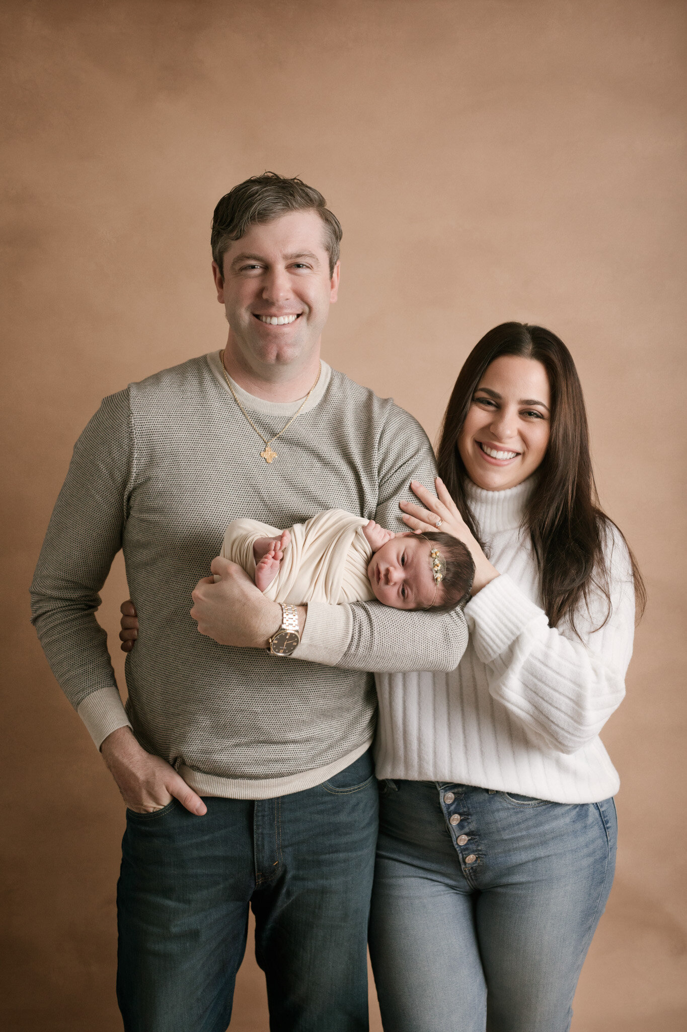
[[[289,526],[291,540],[265,596],[294,606],[306,602],[337,606],[374,599],[368,578],[372,546],[363,534],[367,522],[343,509],[329,509],[305,523]],[[221,555],[254,577],[253,543],[257,538],[278,538],[280,534],[278,527],[259,520],[234,520],[227,527]]]

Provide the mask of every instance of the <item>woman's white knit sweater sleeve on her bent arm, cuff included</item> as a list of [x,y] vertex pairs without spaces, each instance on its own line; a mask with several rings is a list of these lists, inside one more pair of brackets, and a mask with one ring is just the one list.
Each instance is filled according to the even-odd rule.
[[[489,692],[550,748],[573,753],[594,739],[625,694],[632,654],[634,588],[627,548],[611,526],[607,534],[611,611],[592,593],[570,624],[549,626],[543,609],[502,575],[466,607]],[[596,628],[596,630],[595,630]]]

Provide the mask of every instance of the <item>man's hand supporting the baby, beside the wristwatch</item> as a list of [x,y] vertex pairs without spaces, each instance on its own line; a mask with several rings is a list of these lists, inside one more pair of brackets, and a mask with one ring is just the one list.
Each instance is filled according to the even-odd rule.
[[281,626],[281,606],[266,599],[235,562],[218,555],[210,570],[214,576],[204,577],[192,591],[191,615],[199,632],[220,645],[267,648]]

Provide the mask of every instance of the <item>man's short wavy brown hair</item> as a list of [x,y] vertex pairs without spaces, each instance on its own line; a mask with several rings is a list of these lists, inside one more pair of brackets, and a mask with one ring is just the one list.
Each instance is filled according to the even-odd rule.
[[297,175],[289,180],[277,172],[251,175],[217,202],[212,216],[212,258],[224,275],[225,252],[232,240],[240,240],[249,226],[271,222],[287,212],[316,212],[324,224],[324,249],[330,256],[330,276],[339,261],[343,235],[336,215],[330,212],[319,190]]

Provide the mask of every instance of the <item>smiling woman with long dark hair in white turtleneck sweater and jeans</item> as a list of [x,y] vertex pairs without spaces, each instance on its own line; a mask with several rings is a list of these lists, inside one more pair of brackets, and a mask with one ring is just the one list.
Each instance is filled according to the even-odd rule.
[[436,498],[475,560],[452,674],[378,675],[370,946],[389,1032],[562,1032],[613,879],[623,698],[644,587],[596,501],[582,389],[553,333],[505,323],[446,411]]

